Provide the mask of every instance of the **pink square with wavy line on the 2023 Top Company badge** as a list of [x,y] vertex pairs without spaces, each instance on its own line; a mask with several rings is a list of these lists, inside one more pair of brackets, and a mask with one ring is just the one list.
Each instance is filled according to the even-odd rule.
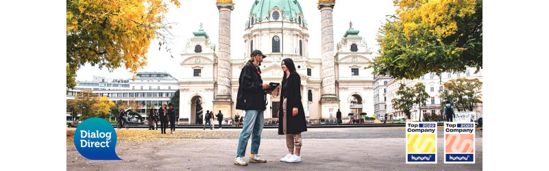
[[473,153],[473,134],[446,134],[446,153]]

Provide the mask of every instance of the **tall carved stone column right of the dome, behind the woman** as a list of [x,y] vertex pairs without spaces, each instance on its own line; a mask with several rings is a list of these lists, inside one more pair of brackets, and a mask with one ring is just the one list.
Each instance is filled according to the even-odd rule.
[[335,90],[334,64],[334,27],[332,11],[335,1],[319,1],[318,9],[321,17],[321,48],[322,48],[322,95],[320,98],[320,116],[330,116],[330,111],[339,109],[339,100]]

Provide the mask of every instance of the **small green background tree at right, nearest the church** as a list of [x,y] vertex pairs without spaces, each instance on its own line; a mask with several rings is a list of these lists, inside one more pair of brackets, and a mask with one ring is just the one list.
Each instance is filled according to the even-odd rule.
[[406,114],[406,117],[410,119],[411,109],[414,104],[414,90],[413,88],[408,88],[403,83],[400,83],[400,87],[398,88],[396,95],[400,96],[400,98],[394,98],[393,103],[393,109],[395,110],[402,110],[404,111],[404,114]]

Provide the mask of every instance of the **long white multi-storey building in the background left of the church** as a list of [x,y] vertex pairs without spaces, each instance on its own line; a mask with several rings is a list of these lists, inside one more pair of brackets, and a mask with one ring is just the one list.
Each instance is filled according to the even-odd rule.
[[83,90],[91,90],[97,96],[108,97],[114,103],[119,100],[125,104],[129,104],[130,101],[141,103],[142,107],[136,112],[146,116],[147,105],[158,109],[162,103],[169,103],[171,96],[175,95],[178,89],[178,80],[169,73],[143,72],[135,75],[135,81],[105,77],[93,77],[93,81],[80,81],[73,90],[67,92],[66,98],[72,100]]

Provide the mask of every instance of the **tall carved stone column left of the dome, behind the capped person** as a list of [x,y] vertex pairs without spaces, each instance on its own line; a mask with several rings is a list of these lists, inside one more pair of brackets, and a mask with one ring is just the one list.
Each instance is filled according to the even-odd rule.
[[232,98],[230,94],[230,34],[232,3],[216,3],[219,10],[219,48],[217,49],[217,93],[213,103],[213,111],[219,110],[224,116],[232,113]]

